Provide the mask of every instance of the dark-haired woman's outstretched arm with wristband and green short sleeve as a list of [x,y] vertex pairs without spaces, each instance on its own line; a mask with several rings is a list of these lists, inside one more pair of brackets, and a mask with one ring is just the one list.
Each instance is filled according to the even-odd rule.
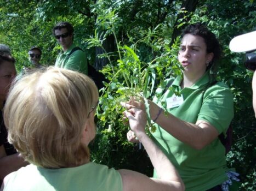
[[[214,93],[212,90],[210,91],[209,97],[207,98],[209,102],[207,103],[208,105],[206,106],[206,108],[208,108],[208,110],[209,108],[211,108],[211,114],[213,114],[213,112],[216,112],[216,114],[214,115],[217,115],[218,117],[217,123],[225,123],[226,127],[228,127],[231,118],[227,117],[225,114],[227,112],[232,112],[232,94],[230,90],[225,87],[217,87],[215,88],[215,90],[216,89],[217,91]],[[221,100],[221,102],[218,102],[218,100]],[[226,106],[220,103],[225,103]],[[130,106],[128,106],[127,109],[135,107],[145,110],[145,105],[143,104],[143,102],[138,102],[135,99],[131,99],[127,103],[127,105],[129,104]],[[155,120],[161,108],[150,100],[149,105],[151,120]],[[175,117],[168,112],[165,113],[164,111],[162,111],[160,115],[158,115],[155,122],[172,136],[174,136],[176,139],[184,142],[187,145],[190,145],[197,150],[201,150],[202,148],[210,144],[219,135],[217,128],[208,121],[197,120],[195,124],[189,123],[180,120],[178,117]]]

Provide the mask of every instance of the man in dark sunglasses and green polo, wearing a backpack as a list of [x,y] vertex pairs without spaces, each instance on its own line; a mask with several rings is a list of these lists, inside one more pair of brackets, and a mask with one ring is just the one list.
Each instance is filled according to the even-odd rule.
[[53,27],[53,35],[62,47],[55,67],[79,71],[88,74],[86,54],[82,50],[72,51],[77,46],[73,44],[74,29],[69,22],[58,22]]

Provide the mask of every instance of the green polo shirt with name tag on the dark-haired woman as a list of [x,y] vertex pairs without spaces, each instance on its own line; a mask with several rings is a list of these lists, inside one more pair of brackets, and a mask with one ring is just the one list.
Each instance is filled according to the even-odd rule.
[[[170,80],[172,79],[166,80],[166,85]],[[181,89],[181,80],[181,77],[177,77],[172,88],[180,91],[183,103],[178,106],[168,103],[173,102],[173,99],[168,98],[174,93],[169,89],[163,92],[161,88],[157,89],[158,99],[155,97],[153,102],[162,107],[165,103],[166,110],[180,120],[190,123],[203,120],[212,124],[219,134],[225,134],[234,117],[233,96],[229,87],[223,82],[215,83],[207,88],[203,97],[203,90],[209,84],[208,73],[189,88]],[[179,171],[186,190],[207,190],[227,180],[225,147],[218,138],[202,150],[196,150],[175,139],[157,124],[156,127],[156,132],[152,133],[153,139]],[[156,172],[154,176],[157,177]]]

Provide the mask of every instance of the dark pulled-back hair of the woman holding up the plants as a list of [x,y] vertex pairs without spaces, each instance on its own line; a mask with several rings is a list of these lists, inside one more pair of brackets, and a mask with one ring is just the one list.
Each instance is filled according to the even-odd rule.
[[213,52],[213,59],[206,70],[211,70],[212,73],[215,74],[218,66],[217,61],[221,57],[221,46],[215,34],[209,31],[209,29],[200,22],[187,26],[183,30],[181,38],[183,38],[185,34],[198,35],[203,38],[204,43],[206,43],[207,53]]

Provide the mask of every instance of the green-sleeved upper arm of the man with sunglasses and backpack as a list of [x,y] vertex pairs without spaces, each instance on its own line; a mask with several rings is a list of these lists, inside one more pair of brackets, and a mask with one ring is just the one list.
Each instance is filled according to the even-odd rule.
[[82,50],[77,50],[70,55],[69,60],[66,62],[64,68],[74,71],[79,71],[83,74],[88,74],[86,54]]

